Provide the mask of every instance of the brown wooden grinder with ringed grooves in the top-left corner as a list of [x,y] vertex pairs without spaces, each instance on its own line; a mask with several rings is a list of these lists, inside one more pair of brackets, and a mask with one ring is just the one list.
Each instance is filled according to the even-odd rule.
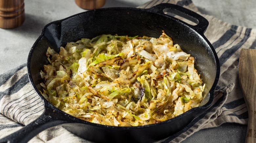
[[24,0],[0,0],[0,28],[16,28],[24,21]]

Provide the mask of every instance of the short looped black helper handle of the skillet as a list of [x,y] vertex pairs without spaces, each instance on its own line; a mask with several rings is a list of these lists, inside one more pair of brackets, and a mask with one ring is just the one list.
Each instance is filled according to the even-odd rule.
[[[174,4],[162,3],[159,5],[156,5],[152,8],[148,8],[148,10],[172,17],[172,18],[178,20],[179,22],[191,27],[192,29],[194,29],[195,31],[197,31],[200,34],[203,34],[209,25],[209,22],[203,16],[201,16],[201,15],[197,14],[196,12],[193,12],[187,8],[183,8],[181,6],[174,5]],[[189,21],[196,23],[197,25],[187,24],[187,23],[181,21],[180,19],[177,19],[168,14],[165,14],[164,12],[170,12],[170,13],[176,14],[176,15],[181,16]]]

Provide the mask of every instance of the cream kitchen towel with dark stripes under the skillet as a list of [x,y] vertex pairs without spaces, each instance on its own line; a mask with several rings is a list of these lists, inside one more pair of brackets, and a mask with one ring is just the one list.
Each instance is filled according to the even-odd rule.
[[[198,12],[191,0],[153,0],[139,8],[150,8],[160,3],[177,4]],[[215,48],[221,65],[213,104],[180,132],[159,142],[181,142],[201,129],[223,123],[247,124],[247,109],[238,81],[238,63],[241,48],[255,49],[256,29],[231,25],[209,15],[203,16],[209,21],[205,36]],[[29,83],[26,64],[0,75],[0,138],[29,124],[43,110],[43,103]],[[41,132],[30,142],[90,141],[57,126]]]

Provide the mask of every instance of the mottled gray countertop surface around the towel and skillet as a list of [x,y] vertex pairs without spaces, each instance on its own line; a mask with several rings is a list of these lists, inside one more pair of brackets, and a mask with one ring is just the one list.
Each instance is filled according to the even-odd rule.
[[[104,7],[136,7],[150,0],[106,0]],[[225,22],[256,28],[255,0],[192,0],[203,14]],[[27,62],[27,56],[41,29],[48,23],[85,11],[72,0],[25,0],[26,20],[15,29],[0,28],[0,74]],[[223,124],[204,129],[183,142],[245,141],[246,125]]]

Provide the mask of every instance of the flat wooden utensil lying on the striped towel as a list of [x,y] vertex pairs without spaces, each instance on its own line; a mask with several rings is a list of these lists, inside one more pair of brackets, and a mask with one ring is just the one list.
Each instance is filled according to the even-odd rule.
[[256,50],[241,49],[239,82],[242,88],[249,120],[245,142],[256,142]]

